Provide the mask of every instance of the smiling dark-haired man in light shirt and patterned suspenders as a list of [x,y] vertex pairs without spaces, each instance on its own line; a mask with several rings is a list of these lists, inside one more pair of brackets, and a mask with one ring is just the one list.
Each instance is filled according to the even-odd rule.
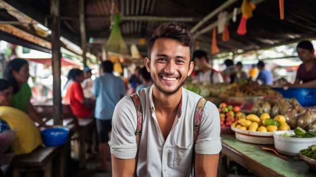
[[163,23],[152,34],[144,63],[153,85],[124,97],[113,114],[113,176],[216,176],[219,112],[182,87],[193,43],[183,24]]

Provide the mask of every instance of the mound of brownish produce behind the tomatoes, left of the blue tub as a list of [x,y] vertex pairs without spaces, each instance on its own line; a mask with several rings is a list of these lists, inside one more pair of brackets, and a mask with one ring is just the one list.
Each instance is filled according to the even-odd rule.
[[281,95],[268,85],[258,85],[256,83],[247,83],[232,87],[222,92],[219,97],[247,97],[247,96],[265,96],[265,95]]

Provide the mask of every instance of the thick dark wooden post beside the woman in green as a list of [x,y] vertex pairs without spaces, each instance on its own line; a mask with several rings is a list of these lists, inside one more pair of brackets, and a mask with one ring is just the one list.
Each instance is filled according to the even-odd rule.
[[52,65],[52,87],[54,102],[54,125],[61,124],[62,115],[62,92],[61,92],[61,22],[60,22],[60,0],[50,0],[51,15],[51,65]]

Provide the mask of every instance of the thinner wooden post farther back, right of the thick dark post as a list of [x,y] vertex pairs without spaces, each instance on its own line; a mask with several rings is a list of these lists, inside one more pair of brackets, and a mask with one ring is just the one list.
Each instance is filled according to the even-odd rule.
[[80,33],[81,33],[81,48],[83,66],[87,66],[87,41],[86,41],[86,26],[85,26],[85,11],[84,11],[84,0],[79,0],[79,21],[80,21]]

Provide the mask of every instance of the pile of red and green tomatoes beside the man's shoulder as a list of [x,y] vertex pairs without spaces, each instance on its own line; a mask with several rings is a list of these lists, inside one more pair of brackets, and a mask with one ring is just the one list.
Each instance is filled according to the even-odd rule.
[[220,112],[221,126],[230,127],[230,125],[239,119],[242,119],[246,115],[240,112],[239,106],[227,105],[226,103],[221,103],[218,108]]

